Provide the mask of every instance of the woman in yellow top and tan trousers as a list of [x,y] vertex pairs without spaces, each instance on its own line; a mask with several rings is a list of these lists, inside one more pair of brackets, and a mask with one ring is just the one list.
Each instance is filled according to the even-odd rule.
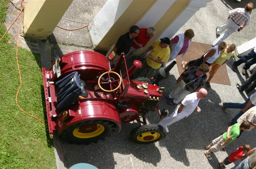
[[211,71],[209,72],[210,76],[209,76],[209,79],[205,82],[207,87],[208,88],[211,88],[211,84],[210,84],[210,81],[212,79],[212,77],[214,76],[214,74],[218,71],[218,69],[224,65],[226,63],[227,60],[229,60],[229,58],[231,56],[234,55],[234,51],[236,49],[236,45],[235,44],[228,44],[227,45],[227,48],[220,53],[220,57],[217,58],[211,65],[210,67],[211,68]]

